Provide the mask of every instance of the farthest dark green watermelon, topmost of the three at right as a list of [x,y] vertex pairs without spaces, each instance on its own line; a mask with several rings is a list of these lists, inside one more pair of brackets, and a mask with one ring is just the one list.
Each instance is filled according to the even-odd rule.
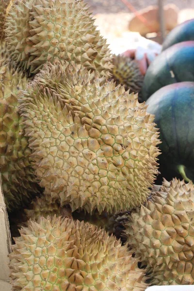
[[176,26],[165,38],[162,50],[168,49],[183,41],[194,40],[194,19],[187,20]]

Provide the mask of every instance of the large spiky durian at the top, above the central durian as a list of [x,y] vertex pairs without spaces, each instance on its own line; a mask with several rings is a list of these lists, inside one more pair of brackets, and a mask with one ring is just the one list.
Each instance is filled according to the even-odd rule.
[[82,0],[18,1],[5,27],[13,60],[29,74],[57,58],[111,76],[110,50]]

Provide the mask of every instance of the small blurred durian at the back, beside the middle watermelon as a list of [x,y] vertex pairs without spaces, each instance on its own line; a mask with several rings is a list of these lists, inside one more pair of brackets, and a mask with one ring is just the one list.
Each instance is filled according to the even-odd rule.
[[126,91],[138,93],[138,100],[141,101],[144,76],[135,60],[122,55],[114,55],[113,65],[112,74],[116,84],[124,85]]

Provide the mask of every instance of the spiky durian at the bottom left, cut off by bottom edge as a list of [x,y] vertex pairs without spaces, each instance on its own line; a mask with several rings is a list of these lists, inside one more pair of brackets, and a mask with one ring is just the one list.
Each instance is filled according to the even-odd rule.
[[96,226],[41,217],[20,234],[10,254],[13,290],[144,291],[147,287],[127,247]]

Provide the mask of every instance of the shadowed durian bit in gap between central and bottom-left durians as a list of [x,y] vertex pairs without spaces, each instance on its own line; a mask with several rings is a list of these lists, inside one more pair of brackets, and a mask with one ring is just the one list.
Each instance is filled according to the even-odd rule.
[[31,208],[24,210],[28,219],[38,220],[40,216],[72,217],[71,208],[61,207],[60,201],[53,199],[50,194],[44,193],[41,197],[32,200]]

